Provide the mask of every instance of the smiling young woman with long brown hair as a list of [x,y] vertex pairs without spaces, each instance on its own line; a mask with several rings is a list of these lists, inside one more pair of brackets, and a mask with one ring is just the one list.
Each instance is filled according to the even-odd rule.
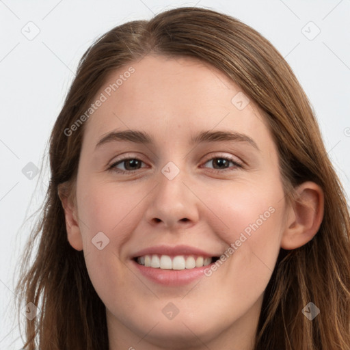
[[347,202],[254,29],[199,8],[112,29],[50,141],[25,349],[350,349]]

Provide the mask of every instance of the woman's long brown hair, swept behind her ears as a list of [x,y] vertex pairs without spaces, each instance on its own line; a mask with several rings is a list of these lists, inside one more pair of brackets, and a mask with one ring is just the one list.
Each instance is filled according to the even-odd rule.
[[[36,319],[26,321],[25,349],[108,349],[105,306],[90,282],[83,252],[67,241],[57,193],[60,184],[76,180],[84,124],[70,136],[64,130],[89,108],[109,73],[149,53],[196,57],[224,72],[265,113],[278,147],[286,199],[306,180],[323,189],[319,232],[302,247],[280,250],[254,349],[349,350],[349,208],[312,107],[268,40],[231,16],[203,8],[176,8],[150,21],[115,27],[81,58],[51,134],[51,180],[16,289],[20,300],[41,310]],[[312,321],[301,312],[310,301],[321,310]]]

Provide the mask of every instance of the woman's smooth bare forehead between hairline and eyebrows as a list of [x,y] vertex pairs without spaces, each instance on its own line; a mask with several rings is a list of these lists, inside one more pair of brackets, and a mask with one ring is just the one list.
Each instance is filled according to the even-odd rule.
[[[217,68],[192,57],[146,56],[113,71],[87,122],[89,139],[113,129],[142,129],[163,139],[193,130],[256,133],[267,122],[258,106]],[[96,99],[95,98],[95,99]],[[244,107],[244,108],[242,108]],[[193,134],[193,133],[191,133]],[[260,135],[262,136],[262,135]]]

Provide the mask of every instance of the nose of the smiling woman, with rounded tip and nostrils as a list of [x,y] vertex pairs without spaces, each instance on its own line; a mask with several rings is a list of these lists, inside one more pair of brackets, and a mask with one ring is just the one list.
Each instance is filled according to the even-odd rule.
[[195,193],[185,172],[180,171],[172,179],[161,172],[146,209],[148,224],[174,231],[196,225],[200,200]]

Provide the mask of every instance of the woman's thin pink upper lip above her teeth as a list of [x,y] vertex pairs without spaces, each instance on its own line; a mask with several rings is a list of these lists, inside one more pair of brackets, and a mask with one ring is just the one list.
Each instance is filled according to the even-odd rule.
[[170,245],[155,245],[154,247],[148,247],[137,251],[135,254],[133,254],[132,258],[137,258],[139,256],[152,255],[152,254],[169,255],[169,256],[198,255],[198,256],[203,256],[204,258],[211,258],[213,256],[220,255],[220,254],[217,255],[217,254],[204,252],[204,250],[200,250],[196,247],[190,247],[189,245],[175,245],[174,247]]

